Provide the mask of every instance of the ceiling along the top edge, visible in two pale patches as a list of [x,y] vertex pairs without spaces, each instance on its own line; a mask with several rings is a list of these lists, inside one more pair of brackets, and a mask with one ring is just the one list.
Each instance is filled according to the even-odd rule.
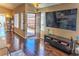
[[[0,6],[3,6],[5,8],[8,9],[14,9],[17,6],[21,5],[23,3],[0,3]],[[39,8],[44,8],[44,7],[48,7],[48,6],[52,6],[52,5],[57,5],[58,3],[40,3],[39,4]]]

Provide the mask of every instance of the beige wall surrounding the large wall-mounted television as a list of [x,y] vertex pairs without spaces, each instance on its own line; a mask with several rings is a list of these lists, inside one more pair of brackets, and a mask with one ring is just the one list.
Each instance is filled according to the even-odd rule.
[[57,11],[57,10],[65,10],[65,9],[73,9],[73,8],[77,8],[77,23],[76,23],[76,31],[71,31],[71,30],[65,30],[65,29],[60,29],[60,28],[51,28],[51,27],[46,27],[46,31],[47,29],[50,29],[50,32],[52,34],[58,35],[58,36],[62,36],[62,37],[66,37],[66,38],[71,38],[73,37],[75,39],[75,36],[77,34],[79,34],[79,4],[58,4],[55,6],[51,6],[51,7],[47,7],[47,8],[43,8],[40,9],[41,12],[51,12],[51,11]]

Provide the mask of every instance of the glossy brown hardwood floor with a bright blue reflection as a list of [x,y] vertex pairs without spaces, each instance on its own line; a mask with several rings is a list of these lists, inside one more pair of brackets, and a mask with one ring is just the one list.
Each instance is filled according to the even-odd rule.
[[[11,32],[7,32],[7,39],[7,43],[10,44],[9,51],[15,51],[12,42],[14,35]],[[30,39],[27,38],[25,42],[25,39],[19,37],[19,40],[19,49],[25,49],[26,51],[28,51],[27,53],[26,51],[24,51],[26,53],[26,56],[67,56],[66,53],[50,46],[48,43],[44,43],[43,39],[34,39],[33,37],[30,37]],[[24,48],[24,45],[26,45],[27,48]]]

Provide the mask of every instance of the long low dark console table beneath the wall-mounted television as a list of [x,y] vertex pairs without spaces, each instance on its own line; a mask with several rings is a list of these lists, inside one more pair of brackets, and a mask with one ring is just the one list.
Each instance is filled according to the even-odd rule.
[[51,46],[67,54],[72,53],[72,49],[69,48],[69,41],[70,40],[68,38],[64,38],[64,37],[60,37],[56,35],[45,35],[44,36],[44,42],[48,42]]

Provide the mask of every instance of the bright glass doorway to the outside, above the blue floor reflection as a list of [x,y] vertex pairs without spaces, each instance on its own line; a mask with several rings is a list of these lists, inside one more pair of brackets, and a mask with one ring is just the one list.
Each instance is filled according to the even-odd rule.
[[33,13],[27,14],[27,37],[36,35],[36,15]]

